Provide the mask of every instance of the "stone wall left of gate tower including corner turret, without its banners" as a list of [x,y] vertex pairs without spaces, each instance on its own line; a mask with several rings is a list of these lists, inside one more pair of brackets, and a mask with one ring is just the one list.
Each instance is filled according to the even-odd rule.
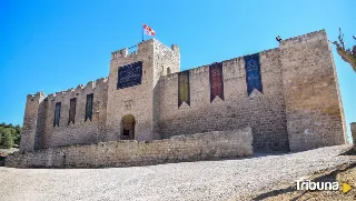
[[[106,141],[108,79],[102,78],[76,89],[28,96],[20,150],[90,144]],[[85,121],[87,94],[93,93],[92,118]],[[70,99],[77,98],[75,123],[69,120]],[[53,127],[56,103],[61,102],[59,127]]]

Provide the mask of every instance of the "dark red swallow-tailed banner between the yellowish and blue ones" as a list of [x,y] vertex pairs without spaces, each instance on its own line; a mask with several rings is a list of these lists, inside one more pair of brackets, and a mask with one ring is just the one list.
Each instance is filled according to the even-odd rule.
[[224,100],[224,79],[222,79],[222,62],[212,63],[209,66],[209,81],[210,81],[210,102],[216,97]]

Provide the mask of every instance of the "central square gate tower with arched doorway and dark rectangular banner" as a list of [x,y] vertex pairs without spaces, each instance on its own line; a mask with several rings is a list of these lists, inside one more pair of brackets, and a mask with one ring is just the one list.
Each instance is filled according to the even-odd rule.
[[180,54],[177,46],[166,47],[156,39],[137,44],[137,51],[122,49],[111,53],[107,140],[159,139],[155,107],[160,76],[178,72]]

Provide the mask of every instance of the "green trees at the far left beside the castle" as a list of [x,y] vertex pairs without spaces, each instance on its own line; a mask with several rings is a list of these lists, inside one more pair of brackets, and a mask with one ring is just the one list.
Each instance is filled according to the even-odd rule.
[[20,144],[22,128],[20,125],[13,127],[11,123],[0,124],[0,148],[9,149]]

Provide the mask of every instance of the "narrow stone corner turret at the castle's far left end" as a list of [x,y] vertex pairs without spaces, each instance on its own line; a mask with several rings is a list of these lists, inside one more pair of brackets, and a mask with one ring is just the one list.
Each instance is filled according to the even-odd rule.
[[[41,131],[40,127],[43,127],[41,123],[44,120],[44,93],[38,92],[36,94],[27,96],[23,127],[20,142],[21,151],[32,151],[41,147]],[[38,122],[41,121],[41,122]]]

